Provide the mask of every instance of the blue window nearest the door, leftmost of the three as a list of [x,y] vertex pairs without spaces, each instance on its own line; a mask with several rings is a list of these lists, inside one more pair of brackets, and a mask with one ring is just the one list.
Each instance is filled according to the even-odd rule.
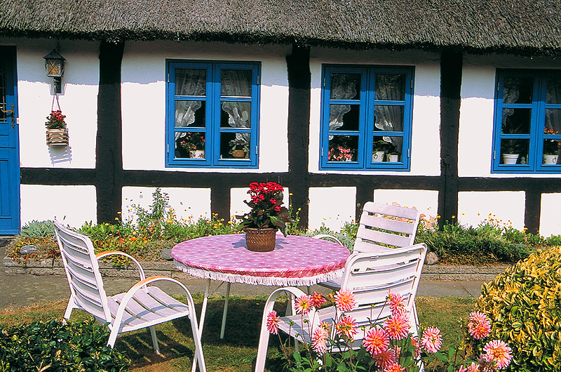
[[167,166],[257,168],[259,69],[168,60]]

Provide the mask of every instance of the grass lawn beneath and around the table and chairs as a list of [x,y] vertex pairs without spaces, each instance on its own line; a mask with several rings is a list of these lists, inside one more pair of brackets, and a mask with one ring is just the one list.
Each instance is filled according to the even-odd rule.
[[[194,295],[197,314],[201,314],[202,294]],[[219,338],[224,296],[210,297],[203,329],[203,354],[208,371],[250,372],[257,356],[259,327],[266,297],[232,296],[229,302],[228,321],[224,340]],[[438,326],[442,331],[443,346],[457,343],[459,319],[466,321],[473,310],[475,298],[417,297],[417,310],[421,326]],[[27,323],[33,320],[61,319],[66,300],[37,303],[28,307],[12,307],[0,310],[0,327]],[[285,303],[280,300],[277,312],[283,312]],[[71,320],[83,320],[85,312],[74,311]],[[191,368],[194,343],[189,319],[177,319],[156,326],[163,357],[154,353],[148,331],[126,333],[117,338],[115,347],[133,362],[133,372],[178,372]],[[271,359],[272,358],[272,359]],[[271,371],[282,370],[278,339],[269,341]]]

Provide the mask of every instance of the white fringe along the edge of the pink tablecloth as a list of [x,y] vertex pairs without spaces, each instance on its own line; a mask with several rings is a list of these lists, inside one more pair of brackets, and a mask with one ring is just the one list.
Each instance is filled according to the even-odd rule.
[[225,274],[222,272],[208,272],[206,270],[195,269],[192,267],[181,266],[178,267],[183,272],[194,277],[203,279],[212,279],[219,281],[228,281],[229,283],[243,283],[243,284],[256,284],[259,286],[313,286],[314,284],[322,283],[337,279],[343,276],[344,269],[328,272],[326,274],[318,274],[313,277],[304,278],[280,278],[280,277],[250,277],[238,274]]

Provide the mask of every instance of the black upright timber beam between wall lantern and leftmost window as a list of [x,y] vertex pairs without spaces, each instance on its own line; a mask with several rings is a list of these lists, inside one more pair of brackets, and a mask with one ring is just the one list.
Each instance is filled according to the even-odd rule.
[[114,222],[121,211],[123,144],[121,124],[121,61],[123,42],[102,41],[97,94],[95,190],[97,223]]

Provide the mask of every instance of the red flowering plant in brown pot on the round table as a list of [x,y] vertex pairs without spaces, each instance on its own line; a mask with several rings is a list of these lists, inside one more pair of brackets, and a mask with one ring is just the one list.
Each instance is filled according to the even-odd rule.
[[[236,215],[241,219],[237,230],[245,231],[245,239],[250,251],[272,251],[276,230],[286,236],[286,223],[292,222],[288,209],[283,205],[283,187],[276,182],[250,183],[250,201],[244,201],[251,211]],[[259,248],[255,244],[266,245]],[[271,247],[272,244],[272,247]]]

